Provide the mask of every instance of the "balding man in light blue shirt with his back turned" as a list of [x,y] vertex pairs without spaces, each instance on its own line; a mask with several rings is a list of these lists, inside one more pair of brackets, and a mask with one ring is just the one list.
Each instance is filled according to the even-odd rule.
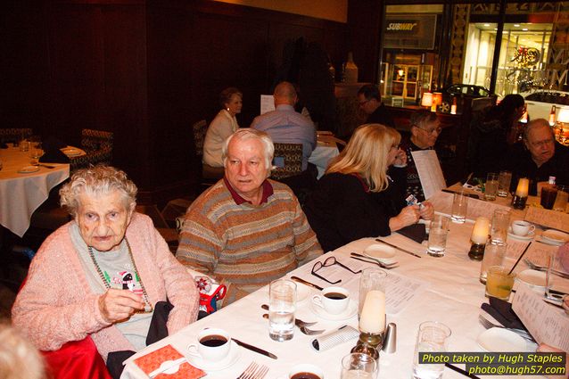
[[296,90],[289,82],[280,82],[273,93],[275,111],[268,111],[253,119],[251,128],[268,134],[274,143],[302,144],[302,171],[309,165],[309,157],[316,148],[316,128],[312,121],[294,111],[298,101]]

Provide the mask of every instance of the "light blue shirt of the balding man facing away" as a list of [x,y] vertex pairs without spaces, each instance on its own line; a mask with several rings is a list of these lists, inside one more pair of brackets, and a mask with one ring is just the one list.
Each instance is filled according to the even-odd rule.
[[251,128],[266,132],[279,144],[302,144],[302,170],[308,167],[310,154],[316,148],[316,128],[292,105],[279,104],[275,111],[257,116]]

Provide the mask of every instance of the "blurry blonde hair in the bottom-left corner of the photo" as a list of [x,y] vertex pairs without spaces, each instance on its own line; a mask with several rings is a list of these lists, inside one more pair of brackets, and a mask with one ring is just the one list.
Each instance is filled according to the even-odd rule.
[[44,358],[34,345],[4,320],[0,323],[0,378],[45,378]]

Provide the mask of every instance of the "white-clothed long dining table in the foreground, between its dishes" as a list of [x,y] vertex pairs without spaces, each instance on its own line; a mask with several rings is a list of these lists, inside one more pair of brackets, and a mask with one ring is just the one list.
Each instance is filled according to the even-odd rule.
[[[416,243],[399,233],[392,233],[388,237],[382,237],[384,241],[393,243],[408,251],[413,251],[420,256],[417,258],[408,253],[396,250],[396,259],[400,265],[397,268],[387,270],[390,285],[386,290],[386,297],[397,304],[387,307],[387,323],[397,325],[396,351],[385,353],[381,351],[379,361],[378,378],[389,379],[408,379],[412,377],[412,366],[414,349],[416,343],[416,331],[418,325],[424,321],[439,321],[448,325],[451,329],[449,338],[449,351],[482,352],[482,347],[478,344],[477,338],[485,329],[479,323],[478,317],[483,302],[488,302],[485,297],[484,285],[479,281],[481,262],[470,260],[468,250],[470,248],[470,235],[474,223],[467,220],[464,224],[451,223],[449,227],[449,239],[446,254],[441,258],[428,256],[425,252],[426,242]],[[536,232],[539,238],[540,228]],[[509,238],[509,237],[508,237]],[[363,238],[352,243],[348,243],[335,251],[329,251],[324,256],[319,257],[313,262],[301,266],[286,275],[299,276],[313,284],[322,287],[329,286],[325,281],[311,275],[311,268],[316,261],[324,261],[328,256],[334,256],[342,264],[359,270],[373,266],[359,260],[350,258],[350,252],[362,253],[367,246],[377,243],[374,238]],[[557,249],[552,246],[551,249]],[[509,256],[507,264],[514,264],[516,256]],[[526,269],[524,261],[521,261],[516,272]],[[348,270],[333,265],[323,268],[318,274],[330,280],[341,279],[340,284],[350,291],[352,301],[358,302],[359,274],[351,274]],[[404,288],[405,287],[405,288]],[[334,331],[342,325],[351,325],[358,328],[357,314],[341,320],[330,320],[318,315],[311,305],[311,297],[318,293],[317,290],[298,284],[299,296],[302,298],[297,304],[296,317],[304,321],[317,321],[314,329],[326,329],[326,332]],[[160,342],[146,347],[139,351],[132,358],[129,358],[123,375],[124,379],[147,378],[143,371],[133,362],[134,358],[143,356],[157,350],[167,344],[172,345],[182,354],[187,356],[187,346],[196,341],[196,335],[206,327],[219,327],[240,341],[253,344],[261,349],[268,350],[276,354],[277,359],[268,358],[243,348],[238,350],[235,358],[229,367],[217,369],[209,367],[207,378],[236,378],[245,367],[252,361],[269,367],[266,378],[288,378],[291,367],[299,363],[310,363],[320,367],[326,379],[339,378],[341,372],[342,357],[350,352],[357,340],[338,343],[334,348],[326,351],[315,350],[311,342],[315,339],[313,335],[301,334],[296,329],[293,339],[288,342],[275,342],[268,336],[268,320],[264,319],[261,304],[268,303],[268,286],[253,292],[233,304],[219,309],[217,312],[191,325],[187,325],[177,334],[170,335]],[[393,311],[395,309],[395,311]],[[558,309],[563,313],[563,309]],[[536,345],[527,342],[526,350],[534,350]],[[233,349],[233,348],[232,348]],[[193,362],[192,358],[189,359]],[[460,367],[460,365],[458,365]],[[464,365],[462,366],[464,367]],[[445,379],[463,378],[465,376],[445,367]],[[488,376],[486,376],[488,377]],[[492,377],[492,376],[490,376]],[[495,376],[508,377],[508,376]],[[540,377],[540,376],[511,376],[511,377]]]

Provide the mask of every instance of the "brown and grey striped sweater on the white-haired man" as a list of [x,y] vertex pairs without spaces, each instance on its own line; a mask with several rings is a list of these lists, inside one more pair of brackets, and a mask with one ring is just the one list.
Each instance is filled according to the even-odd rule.
[[177,260],[226,284],[224,305],[322,254],[291,189],[268,183],[267,202],[238,205],[219,180],[186,212]]

